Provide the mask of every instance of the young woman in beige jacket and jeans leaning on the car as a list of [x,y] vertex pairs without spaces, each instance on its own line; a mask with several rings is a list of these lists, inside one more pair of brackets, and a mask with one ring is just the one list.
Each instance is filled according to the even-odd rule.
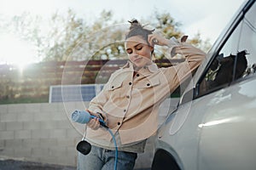
[[[119,150],[119,170],[133,169],[137,153],[143,152],[146,140],[157,130],[161,102],[205,57],[204,52],[187,42],[174,42],[154,34],[154,30],[145,29],[137,20],[130,23],[130,31],[125,36],[129,61],[113,72],[87,110],[92,115],[101,115],[113,132]],[[186,59],[178,65],[159,69],[152,61],[155,45],[172,48],[172,52],[183,54]],[[87,127],[86,139],[92,148],[86,156],[79,154],[78,169],[113,169],[115,147],[112,136],[100,128],[97,118],[90,120]]]

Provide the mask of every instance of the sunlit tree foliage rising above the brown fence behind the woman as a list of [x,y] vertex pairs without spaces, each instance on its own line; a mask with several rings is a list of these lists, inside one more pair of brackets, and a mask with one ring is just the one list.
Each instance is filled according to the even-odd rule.
[[[176,22],[171,14],[160,14],[156,11],[152,15],[148,20],[142,20],[142,23],[149,23],[167,38],[184,35],[180,29],[181,23]],[[8,26],[9,31],[16,32],[22,39],[32,42],[38,49],[40,59],[61,61],[124,58],[125,49],[122,42],[128,23],[127,26],[116,23],[121,22],[113,20],[111,11],[103,10],[96,20],[88,23],[69,9],[67,14],[52,14],[49,20],[24,13],[13,17],[4,26]],[[204,50],[210,46],[209,40],[201,40],[200,33],[193,38],[189,35],[189,39]],[[164,57],[164,50],[156,50],[157,59]]]

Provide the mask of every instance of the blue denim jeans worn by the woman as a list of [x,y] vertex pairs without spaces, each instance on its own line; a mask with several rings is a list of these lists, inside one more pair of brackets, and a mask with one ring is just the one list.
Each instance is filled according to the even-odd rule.
[[[86,156],[79,153],[77,170],[113,170],[115,150],[91,146],[90,153]],[[117,170],[132,170],[137,153],[119,151]]]

